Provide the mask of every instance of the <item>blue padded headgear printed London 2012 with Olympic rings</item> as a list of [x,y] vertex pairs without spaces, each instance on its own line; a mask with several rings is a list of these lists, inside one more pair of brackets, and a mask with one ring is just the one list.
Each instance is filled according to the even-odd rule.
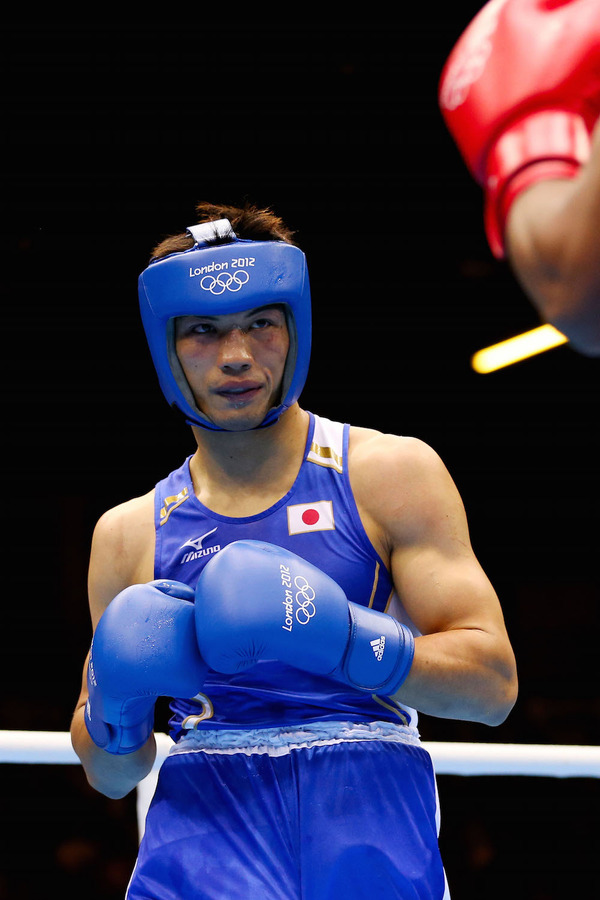
[[[175,352],[178,316],[219,316],[282,304],[290,336],[279,405],[261,426],[296,402],[310,358],[311,310],[304,253],[283,241],[238,238],[227,219],[192,225],[194,246],[153,260],[138,280],[140,311],[162,392],[190,425],[221,431],[197,408]],[[210,243],[215,237],[228,243]]]

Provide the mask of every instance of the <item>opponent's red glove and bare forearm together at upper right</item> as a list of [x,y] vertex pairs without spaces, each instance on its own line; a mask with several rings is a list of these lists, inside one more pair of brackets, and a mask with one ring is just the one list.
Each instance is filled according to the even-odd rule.
[[600,355],[600,0],[490,0],[439,99],[492,251],[576,350]]

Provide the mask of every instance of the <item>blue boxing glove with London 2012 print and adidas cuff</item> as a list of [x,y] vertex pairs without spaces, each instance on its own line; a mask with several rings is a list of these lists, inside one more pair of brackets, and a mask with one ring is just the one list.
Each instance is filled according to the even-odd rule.
[[408,628],[349,602],[320,569],[262,541],[236,541],[211,557],[196,587],[195,613],[200,652],[217,672],[276,659],[391,695],[412,665]]

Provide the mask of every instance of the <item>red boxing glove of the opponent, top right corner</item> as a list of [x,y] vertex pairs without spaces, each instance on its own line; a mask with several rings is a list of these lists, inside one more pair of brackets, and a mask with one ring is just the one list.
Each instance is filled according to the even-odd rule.
[[574,178],[600,114],[600,0],[490,0],[440,79],[446,125],[485,191],[485,230],[504,256],[526,187]]

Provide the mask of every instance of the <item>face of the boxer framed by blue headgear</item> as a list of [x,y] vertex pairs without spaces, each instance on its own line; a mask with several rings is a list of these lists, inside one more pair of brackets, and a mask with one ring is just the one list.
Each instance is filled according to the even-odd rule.
[[289,343],[278,307],[181,316],[175,324],[177,356],[196,405],[227,431],[256,428],[278,403]]

